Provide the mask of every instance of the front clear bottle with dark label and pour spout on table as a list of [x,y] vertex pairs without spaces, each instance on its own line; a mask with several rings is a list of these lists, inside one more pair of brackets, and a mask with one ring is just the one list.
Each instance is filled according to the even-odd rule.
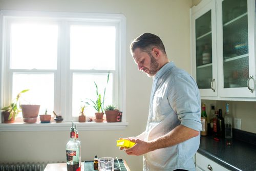
[[67,170],[78,171],[79,168],[79,146],[76,143],[75,127],[72,122],[70,128],[70,140],[66,145]]

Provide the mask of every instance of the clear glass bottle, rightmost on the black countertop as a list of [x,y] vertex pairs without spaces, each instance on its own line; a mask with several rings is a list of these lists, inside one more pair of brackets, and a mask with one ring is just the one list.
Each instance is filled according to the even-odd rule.
[[229,113],[228,106],[229,104],[227,103],[226,114],[225,114],[225,138],[226,138],[227,144],[231,143],[231,139],[232,139],[232,116]]

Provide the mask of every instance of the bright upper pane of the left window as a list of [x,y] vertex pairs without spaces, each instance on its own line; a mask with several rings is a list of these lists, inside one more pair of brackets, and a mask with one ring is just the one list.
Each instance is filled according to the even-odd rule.
[[11,69],[57,69],[58,26],[12,24]]

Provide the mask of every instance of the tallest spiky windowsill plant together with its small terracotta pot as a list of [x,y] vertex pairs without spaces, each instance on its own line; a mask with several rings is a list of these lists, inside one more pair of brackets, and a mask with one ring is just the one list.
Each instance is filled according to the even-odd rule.
[[[110,72],[108,74],[108,78],[106,80],[106,83],[108,84],[109,82],[109,77],[110,77]],[[96,82],[94,81],[95,87],[96,87],[96,100],[93,101],[92,99],[89,99],[92,103],[93,103],[93,108],[97,111],[95,113],[95,122],[103,122],[103,109],[104,109],[104,100],[105,100],[105,91],[106,88],[104,89],[104,93],[103,93],[103,99],[101,99],[101,94],[98,92],[98,86],[96,84]]]

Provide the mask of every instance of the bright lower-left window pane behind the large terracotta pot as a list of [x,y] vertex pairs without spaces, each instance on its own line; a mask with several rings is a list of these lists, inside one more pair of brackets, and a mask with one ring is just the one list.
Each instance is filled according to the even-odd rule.
[[40,104],[39,114],[45,113],[45,110],[52,114],[54,109],[54,74],[13,74],[12,96],[29,89],[22,94],[21,104]]

